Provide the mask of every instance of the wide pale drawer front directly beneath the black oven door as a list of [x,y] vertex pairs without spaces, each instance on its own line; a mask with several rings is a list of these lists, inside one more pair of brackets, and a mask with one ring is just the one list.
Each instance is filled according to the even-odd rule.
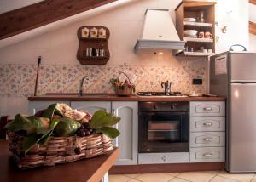
[[138,163],[189,163],[189,152],[140,153],[138,154]]

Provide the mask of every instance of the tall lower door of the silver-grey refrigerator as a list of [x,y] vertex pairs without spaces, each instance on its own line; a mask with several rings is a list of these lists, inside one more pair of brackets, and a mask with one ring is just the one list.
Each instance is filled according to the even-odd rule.
[[256,84],[230,84],[228,170],[256,171]]

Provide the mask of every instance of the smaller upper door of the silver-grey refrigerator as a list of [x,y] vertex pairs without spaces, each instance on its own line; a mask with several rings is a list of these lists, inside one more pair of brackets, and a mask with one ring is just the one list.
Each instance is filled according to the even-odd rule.
[[230,82],[256,82],[256,54],[230,54]]

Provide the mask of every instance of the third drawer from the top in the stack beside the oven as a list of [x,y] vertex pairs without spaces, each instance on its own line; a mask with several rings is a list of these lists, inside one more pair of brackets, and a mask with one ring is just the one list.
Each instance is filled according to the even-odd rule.
[[190,147],[224,146],[224,132],[199,132],[190,133]]

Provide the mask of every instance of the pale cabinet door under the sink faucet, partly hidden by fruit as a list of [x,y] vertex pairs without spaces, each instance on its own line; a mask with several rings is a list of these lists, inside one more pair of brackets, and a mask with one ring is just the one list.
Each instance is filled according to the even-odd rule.
[[110,101],[73,101],[71,102],[71,107],[73,109],[88,111],[90,114],[93,114],[98,110],[105,110],[107,112],[111,112]]

